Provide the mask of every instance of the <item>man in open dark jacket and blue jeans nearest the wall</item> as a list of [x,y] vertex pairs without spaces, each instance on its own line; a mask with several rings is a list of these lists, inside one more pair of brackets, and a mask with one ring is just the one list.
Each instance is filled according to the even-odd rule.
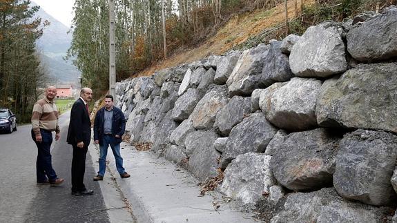
[[115,155],[116,168],[120,177],[130,177],[123,168],[123,158],[120,154],[120,143],[125,130],[126,118],[122,110],[113,106],[112,95],[106,95],[105,106],[97,111],[94,122],[94,140],[95,144],[99,144],[99,171],[94,181],[104,180],[109,145]]

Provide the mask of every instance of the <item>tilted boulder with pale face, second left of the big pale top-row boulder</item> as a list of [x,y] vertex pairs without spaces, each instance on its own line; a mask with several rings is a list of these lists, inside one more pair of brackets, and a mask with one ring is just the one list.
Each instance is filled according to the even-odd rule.
[[229,95],[249,96],[252,91],[262,86],[260,79],[264,59],[267,57],[270,46],[261,43],[255,48],[245,50],[238,59],[233,72],[226,84],[229,87]]

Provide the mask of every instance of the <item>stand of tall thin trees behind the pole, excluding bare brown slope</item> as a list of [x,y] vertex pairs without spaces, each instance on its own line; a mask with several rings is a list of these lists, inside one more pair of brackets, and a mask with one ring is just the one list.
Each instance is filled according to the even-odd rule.
[[[272,8],[280,1],[138,0],[116,3],[117,81],[175,52],[198,46],[233,14]],[[84,84],[108,86],[108,1],[78,0],[69,56]]]

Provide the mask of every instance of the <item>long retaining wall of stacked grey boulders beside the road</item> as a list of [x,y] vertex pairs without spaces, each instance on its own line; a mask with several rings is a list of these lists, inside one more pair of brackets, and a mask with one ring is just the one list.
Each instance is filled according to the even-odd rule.
[[369,14],[117,83],[130,142],[221,169],[245,204],[283,200],[271,222],[391,222],[397,8]]

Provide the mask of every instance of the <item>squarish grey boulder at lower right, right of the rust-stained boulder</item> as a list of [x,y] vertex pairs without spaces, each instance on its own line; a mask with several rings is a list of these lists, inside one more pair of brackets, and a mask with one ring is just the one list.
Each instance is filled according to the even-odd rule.
[[396,135],[356,130],[340,142],[333,185],[347,199],[376,206],[393,204],[397,195],[390,178],[396,159]]

